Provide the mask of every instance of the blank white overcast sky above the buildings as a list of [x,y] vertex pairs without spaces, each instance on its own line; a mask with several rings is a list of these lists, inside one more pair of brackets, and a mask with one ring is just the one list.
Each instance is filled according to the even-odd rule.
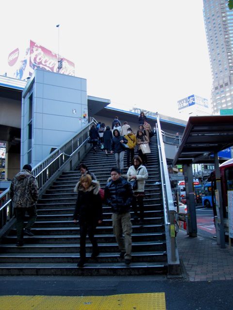
[[75,63],[87,94],[179,117],[177,101],[210,100],[202,0],[11,0],[1,2],[0,74],[30,39]]

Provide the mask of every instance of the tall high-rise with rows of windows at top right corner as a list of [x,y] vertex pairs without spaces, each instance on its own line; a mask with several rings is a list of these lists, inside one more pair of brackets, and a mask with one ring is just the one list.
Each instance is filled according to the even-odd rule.
[[212,71],[211,109],[233,108],[233,11],[228,0],[203,0],[203,15]]

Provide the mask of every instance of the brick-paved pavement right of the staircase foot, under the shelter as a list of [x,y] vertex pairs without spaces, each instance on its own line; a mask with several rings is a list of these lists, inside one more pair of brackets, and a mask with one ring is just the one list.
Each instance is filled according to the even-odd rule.
[[233,247],[220,248],[215,239],[177,235],[179,257],[190,281],[233,280]]

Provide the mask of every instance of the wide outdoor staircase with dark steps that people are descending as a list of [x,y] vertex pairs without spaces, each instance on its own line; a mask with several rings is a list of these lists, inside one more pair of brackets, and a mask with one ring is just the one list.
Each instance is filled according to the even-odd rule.
[[[167,272],[164,212],[160,185],[160,168],[156,137],[152,138],[148,155],[149,179],[144,199],[145,224],[133,219],[132,263],[126,266],[119,258],[113,235],[111,209],[103,205],[103,222],[96,237],[100,256],[91,259],[91,244],[87,238],[87,263],[78,268],[79,226],[72,221],[77,194],[73,192],[79,171],[63,173],[37,204],[38,217],[33,226],[34,237],[24,237],[25,245],[17,248],[13,229],[0,245],[0,275],[146,275]],[[116,166],[115,155],[98,150],[89,152],[82,161],[97,176],[104,188],[110,169]],[[126,154],[125,154],[126,166]],[[127,172],[127,169],[124,169]]]

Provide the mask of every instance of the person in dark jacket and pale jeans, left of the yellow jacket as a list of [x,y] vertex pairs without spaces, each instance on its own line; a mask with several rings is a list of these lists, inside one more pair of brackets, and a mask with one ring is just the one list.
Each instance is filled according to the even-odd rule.
[[[111,154],[115,153],[116,157],[116,167],[123,172],[124,169],[124,155],[125,155],[125,146],[128,140],[120,135],[119,130],[114,129],[113,131],[113,140],[111,142]],[[125,145],[126,144],[126,145]]]

